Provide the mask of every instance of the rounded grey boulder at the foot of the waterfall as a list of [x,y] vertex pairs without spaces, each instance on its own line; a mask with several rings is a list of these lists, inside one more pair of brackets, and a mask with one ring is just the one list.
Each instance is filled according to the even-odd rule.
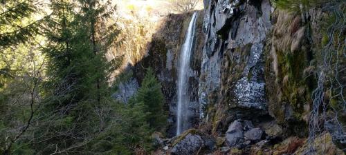
[[171,153],[173,155],[196,154],[203,145],[201,136],[190,133],[174,145]]

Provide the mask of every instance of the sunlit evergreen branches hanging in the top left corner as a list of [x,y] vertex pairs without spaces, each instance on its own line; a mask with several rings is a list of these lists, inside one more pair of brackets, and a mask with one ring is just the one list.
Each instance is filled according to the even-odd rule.
[[33,20],[38,11],[35,0],[0,1],[0,51],[19,43],[26,43],[41,30],[43,19]]

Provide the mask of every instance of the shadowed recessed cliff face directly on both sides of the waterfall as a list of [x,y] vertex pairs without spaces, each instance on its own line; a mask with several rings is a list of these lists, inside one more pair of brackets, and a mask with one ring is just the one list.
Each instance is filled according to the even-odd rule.
[[[161,81],[163,94],[165,95],[166,108],[170,112],[168,136],[174,136],[176,130],[176,83],[177,66],[181,50],[181,45],[185,39],[185,33],[192,17],[188,14],[170,14],[165,19],[165,23],[153,35],[152,42],[148,45],[147,54],[134,66],[134,76],[141,82],[144,77],[145,68],[152,67],[156,72],[158,80]],[[190,105],[188,105],[188,120],[191,126],[197,128],[199,125],[199,100],[198,85],[201,68],[201,53],[203,47],[203,12],[197,14],[196,35],[194,39],[194,50],[190,60],[190,78],[188,82],[188,94],[190,96]]]

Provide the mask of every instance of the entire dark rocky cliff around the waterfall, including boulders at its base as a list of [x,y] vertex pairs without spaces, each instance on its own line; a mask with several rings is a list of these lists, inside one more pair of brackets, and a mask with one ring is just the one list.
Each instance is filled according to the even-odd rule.
[[[338,139],[334,132],[307,143],[316,88],[311,74],[321,61],[316,49],[323,42],[321,21],[327,13],[318,7],[290,13],[269,0],[203,2],[188,85],[189,119],[196,130],[158,138],[156,154],[308,154],[309,145],[321,141],[327,142],[327,153],[313,152],[342,154],[331,143]],[[176,66],[190,17],[167,17],[134,67],[139,83],[144,68],[156,71],[170,110],[169,136],[176,129]]]

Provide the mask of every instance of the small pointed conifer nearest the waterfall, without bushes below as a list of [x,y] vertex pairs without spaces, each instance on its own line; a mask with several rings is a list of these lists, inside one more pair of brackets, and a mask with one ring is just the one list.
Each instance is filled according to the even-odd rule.
[[152,68],[148,68],[141,87],[138,89],[136,97],[130,103],[144,103],[145,112],[148,112],[147,122],[154,130],[165,127],[167,116],[163,110],[164,97],[161,92],[161,84],[155,77]]

